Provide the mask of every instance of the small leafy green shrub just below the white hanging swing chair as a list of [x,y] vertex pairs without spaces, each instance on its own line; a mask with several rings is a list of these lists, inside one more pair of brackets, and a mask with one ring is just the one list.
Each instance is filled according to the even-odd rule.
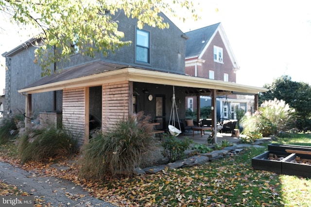
[[188,137],[180,140],[170,133],[164,134],[162,141],[162,155],[167,157],[171,162],[185,157],[185,150],[190,148],[191,140]]

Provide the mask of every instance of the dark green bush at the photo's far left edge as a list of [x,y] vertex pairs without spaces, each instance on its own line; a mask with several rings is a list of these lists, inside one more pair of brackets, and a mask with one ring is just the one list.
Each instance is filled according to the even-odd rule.
[[13,140],[18,135],[17,124],[25,119],[22,113],[8,115],[0,120],[0,144]]

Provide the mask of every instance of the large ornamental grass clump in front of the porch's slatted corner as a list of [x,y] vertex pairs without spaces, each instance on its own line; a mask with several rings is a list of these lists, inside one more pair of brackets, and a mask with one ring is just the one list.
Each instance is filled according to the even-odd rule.
[[153,163],[158,148],[150,119],[140,111],[137,116],[119,121],[116,127],[95,133],[81,149],[80,176],[104,179],[133,175],[135,168]]

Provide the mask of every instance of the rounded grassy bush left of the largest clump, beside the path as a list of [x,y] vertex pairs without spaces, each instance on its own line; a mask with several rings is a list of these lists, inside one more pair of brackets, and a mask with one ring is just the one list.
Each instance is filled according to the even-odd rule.
[[77,140],[68,131],[54,125],[25,128],[21,130],[17,142],[17,153],[22,162],[42,161],[76,151]]

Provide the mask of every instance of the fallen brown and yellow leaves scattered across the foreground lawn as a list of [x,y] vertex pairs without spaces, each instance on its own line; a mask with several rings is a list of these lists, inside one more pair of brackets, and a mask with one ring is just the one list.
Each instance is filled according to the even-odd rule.
[[[76,164],[78,157],[50,159],[46,163],[28,162],[24,165],[17,161],[15,165],[32,172],[33,176],[56,176],[70,180],[85,188],[92,196],[120,207],[284,205],[280,195],[282,180],[279,179],[279,175],[254,171],[249,161],[237,158],[233,156],[190,168],[165,169],[153,175],[110,178],[104,181],[80,179],[79,166]],[[305,182],[302,185],[310,189],[309,183]],[[61,190],[66,190],[65,186]],[[308,190],[305,192],[306,195],[310,195]],[[70,193],[66,195],[71,200],[84,196]],[[37,204],[50,205],[43,199]]]

